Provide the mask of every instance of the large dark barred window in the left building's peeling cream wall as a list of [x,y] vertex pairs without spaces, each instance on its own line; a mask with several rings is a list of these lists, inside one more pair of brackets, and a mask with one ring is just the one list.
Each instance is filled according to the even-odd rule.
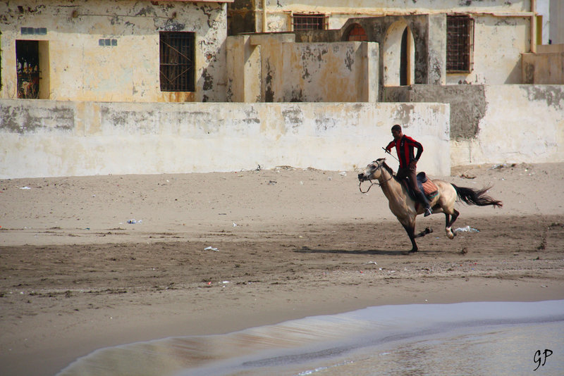
[[195,91],[195,33],[160,32],[161,91]]

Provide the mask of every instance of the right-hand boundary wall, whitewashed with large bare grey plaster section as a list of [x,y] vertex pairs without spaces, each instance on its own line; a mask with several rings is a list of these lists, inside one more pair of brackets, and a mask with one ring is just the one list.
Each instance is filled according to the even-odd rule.
[[450,104],[450,162],[564,161],[564,85],[387,87],[386,100]]

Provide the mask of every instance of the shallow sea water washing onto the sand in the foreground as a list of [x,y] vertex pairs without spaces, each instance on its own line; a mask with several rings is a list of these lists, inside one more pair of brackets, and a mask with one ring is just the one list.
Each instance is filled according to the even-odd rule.
[[94,351],[67,375],[564,375],[564,301],[378,306]]

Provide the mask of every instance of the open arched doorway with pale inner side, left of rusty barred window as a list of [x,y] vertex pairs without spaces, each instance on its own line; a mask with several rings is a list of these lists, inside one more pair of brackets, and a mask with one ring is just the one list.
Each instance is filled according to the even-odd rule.
[[405,21],[388,27],[384,39],[384,86],[413,84],[415,77],[415,48],[413,35]]

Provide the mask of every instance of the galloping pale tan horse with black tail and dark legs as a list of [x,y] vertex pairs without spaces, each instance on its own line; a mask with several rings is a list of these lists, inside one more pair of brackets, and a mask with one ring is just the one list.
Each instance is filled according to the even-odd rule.
[[[372,185],[377,184],[381,187],[384,195],[389,201],[390,211],[396,215],[396,218],[398,218],[398,221],[401,225],[403,225],[407,235],[410,237],[412,244],[410,252],[417,252],[415,239],[431,234],[433,229],[427,227],[422,232],[415,234],[415,218],[417,218],[417,215],[423,213],[424,208],[422,205],[417,205],[416,201],[407,194],[405,184],[396,180],[393,170],[386,165],[386,158],[379,158],[376,161],[369,163],[364,172],[358,174],[358,180],[360,181],[359,189],[360,184],[367,180],[371,182]],[[372,182],[372,180],[378,180],[378,182]],[[456,232],[453,232],[452,226],[460,214],[454,208],[454,203],[457,197],[469,205],[492,205],[494,208],[501,208],[503,206],[501,201],[494,200],[490,196],[486,195],[486,192],[491,187],[472,189],[467,187],[457,187],[455,184],[450,184],[448,182],[444,182],[443,180],[432,180],[432,182],[436,185],[438,193],[432,199],[429,199],[429,204],[433,209],[433,214],[445,214],[445,232],[448,239],[454,239],[456,234]],[[370,185],[370,187],[372,187],[372,185]],[[360,189],[360,192],[362,192],[362,189]]]

